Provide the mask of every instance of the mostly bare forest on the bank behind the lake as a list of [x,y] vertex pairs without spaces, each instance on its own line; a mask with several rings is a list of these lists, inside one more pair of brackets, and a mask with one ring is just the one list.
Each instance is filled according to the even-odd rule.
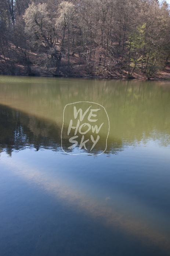
[[0,0],[0,74],[153,78],[169,66],[158,0]]

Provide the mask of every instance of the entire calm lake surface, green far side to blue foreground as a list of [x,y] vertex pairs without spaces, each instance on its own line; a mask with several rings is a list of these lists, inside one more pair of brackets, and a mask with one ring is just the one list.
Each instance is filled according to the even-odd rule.
[[[103,154],[62,151],[74,102]],[[170,255],[169,81],[0,77],[0,255]]]

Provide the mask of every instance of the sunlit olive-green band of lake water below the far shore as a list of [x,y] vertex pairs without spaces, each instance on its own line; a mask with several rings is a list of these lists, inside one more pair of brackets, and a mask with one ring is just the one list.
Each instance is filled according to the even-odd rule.
[[[0,103],[52,121],[61,129],[66,104],[84,100],[96,102],[104,106],[108,113],[111,126],[108,140],[113,145],[117,143],[119,147],[122,142],[123,145],[146,142],[150,138],[160,139],[162,146],[170,142],[166,136],[170,135],[168,81],[61,78],[29,78],[28,81],[25,82],[25,78],[20,83],[17,78],[12,78],[11,82],[3,80],[0,84]],[[67,125],[69,121],[68,118]]]

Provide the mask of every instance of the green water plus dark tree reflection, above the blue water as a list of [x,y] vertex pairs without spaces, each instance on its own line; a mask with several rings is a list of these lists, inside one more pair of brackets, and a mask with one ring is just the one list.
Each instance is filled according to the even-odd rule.
[[[170,89],[165,82],[159,86],[147,82],[78,79],[82,83],[79,86],[75,79],[57,79],[56,86],[51,79],[36,85],[31,81],[16,84],[14,79],[0,85],[1,144],[9,153],[12,148],[19,150],[28,145],[36,150],[40,147],[60,150],[63,109],[70,102],[84,99],[102,104],[108,113],[110,132],[105,153],[116,153],[128,145],[151,139],[159,146],[170,145]],[[68,126],[69,113],[66,121]],[[69,146],[67,141],[64,138],[65,149]],[[98,143],[96,153],[101,147]]]

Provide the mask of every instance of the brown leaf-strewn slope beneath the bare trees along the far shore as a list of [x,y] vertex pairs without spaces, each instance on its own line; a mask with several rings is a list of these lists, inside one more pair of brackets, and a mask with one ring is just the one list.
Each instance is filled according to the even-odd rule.
[[[29,60],[31,63],[32,75],[39,77],[55,77],[57,67],[53,64],[50,65],[47,60],[46,53],[29,52]],[[105,63],[105,64],[104,64]],[[68,59],[64,56],[60,65],[60,77],[81,77],[81,78],[109,78],[109,79],[127,79],[128,70],[126,63],[123,63],[123,67],[120,68],[121,58],[119,56],[114,57],[111,60],[104,60],[104,57],[100,57],[99,54],[95,56],[95,60],[91,57],[87,60],[86,57],[80,58],[78,54],[74,56],[70,55],[70,64],[68,71]],[[26,75],[26,70],[21,63],[15,63],[15,75]],[[131,71],[133,65],[131,66]],[[10,72],[6,70],[3,74],[10,75]],[[133,75],[129,79],[148,79],[146,73],[141,72],[141,68],[136,68]],[[166,67],[162,70],[151,74],[149,79],[170,79],[170,63],[167,63]]]

